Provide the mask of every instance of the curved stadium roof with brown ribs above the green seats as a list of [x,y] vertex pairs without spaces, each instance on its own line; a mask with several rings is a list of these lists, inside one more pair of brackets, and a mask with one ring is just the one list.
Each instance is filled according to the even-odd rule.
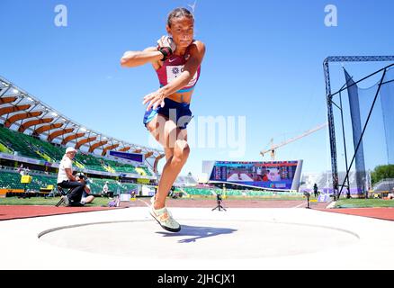
[[42,103],[0,76],[0,124],[63,146],[105,156],[110,150],[142,153],[146,159],[163,157],[163,151],[115,139],[86,128]]

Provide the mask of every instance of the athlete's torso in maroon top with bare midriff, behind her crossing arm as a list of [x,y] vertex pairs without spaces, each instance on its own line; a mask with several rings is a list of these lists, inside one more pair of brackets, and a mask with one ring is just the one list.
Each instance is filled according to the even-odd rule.
[[[175,80],[177,76],[180,76],[182,72],[184,72],[184,65],[189,58],[189,52],[186,50],[184,56],[173,55],[166,59],[163,66],[158,68],[156,71],[160,86],[165,86]],[[200,73],[201,67],[198,67],[196,74],[193,76],[189,84],[184,86],[184,88],[180,89],[175,94],[168,96],[168,99],[178,103],[191,103],[194,86],[200,78]]]

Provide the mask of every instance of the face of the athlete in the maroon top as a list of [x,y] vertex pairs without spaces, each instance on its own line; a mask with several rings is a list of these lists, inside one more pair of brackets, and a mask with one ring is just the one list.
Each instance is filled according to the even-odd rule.
[[194,38],[194,21],[188,17],[174,18],[167,32],[172,35],[176,47],[187,48]]

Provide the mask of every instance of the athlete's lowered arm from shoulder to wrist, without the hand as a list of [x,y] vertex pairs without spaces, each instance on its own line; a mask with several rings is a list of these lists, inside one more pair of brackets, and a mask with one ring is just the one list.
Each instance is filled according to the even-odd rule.
[[176,91],[181,90],[185,85],[188,85],[190,81],[192,81],[193,76],[201,66],[204,55],[205,45],[201,41],[195,41],[190,48],[190,58],[184,65],[184,72],[164,87],[166,95],[174,94]]

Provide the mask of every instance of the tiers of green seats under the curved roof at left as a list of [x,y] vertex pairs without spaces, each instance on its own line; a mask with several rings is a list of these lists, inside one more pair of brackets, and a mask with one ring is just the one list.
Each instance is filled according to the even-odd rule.
[[[47,161],[49,163],[58,163],[64,156],[66,151],[65,147],[54,145],[41,139],[31,137],[18,131],[9,130],[0,126],[0,152],[4,154],[11,154],[15,156],[28,157],[31,159],[38,159]],[[28,163],[23,163],[24,166],[29,166]],[[0,169],[0,188],[4,189],[26,189],[27,191],[40,192],[50,186],[57,189],[57,174],[56,171],[52,173],[44,171],[30,171],[32,180],[30,184],[21,184],[20,171],[15,166],[3,167]],[[134,174],[136,177],[152,177],[155,176],[148,166],[133,166],[131,163],[126,164],[124,161],[118,162],[108,157],[100,157],[94,154],[89,154],[80,151],[75,159],[76,170],[88,169],[92,175],[89,175],[91,180],[92,193],[101,195],[103,193],[103,185],[108,182],[110,192],[113,194],[130,193],[131,191],[139,191],[139,184],[121,183],[112,178],[102,178],[99,175],[94,175],[94,172],[106,172],[118,176],[120,173]],[[42,166],[44,170],[44,166]],[[136,180],[136,179],[134,179]]]

